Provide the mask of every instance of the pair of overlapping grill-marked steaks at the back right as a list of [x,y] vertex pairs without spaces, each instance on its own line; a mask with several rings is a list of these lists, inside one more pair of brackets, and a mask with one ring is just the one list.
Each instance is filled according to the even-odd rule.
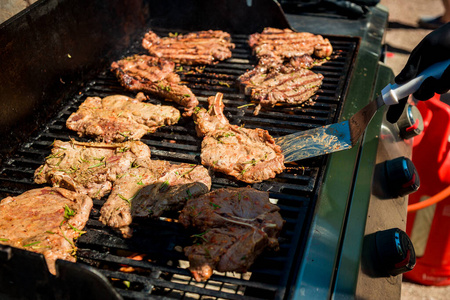
[[323,75],[308,70],[319,63],[311,55],[326,58],[333,52],[328,39],[290,29],[265,28],[250,36],[249,45],[259,62],[238,81],[244,93],[258,103],[255,115],[263,106],[310,101],[323,80]]

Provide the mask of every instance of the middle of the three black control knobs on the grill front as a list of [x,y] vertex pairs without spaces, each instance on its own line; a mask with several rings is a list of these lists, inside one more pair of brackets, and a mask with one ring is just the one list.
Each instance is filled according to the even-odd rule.
[[385,162],[386,185],[393,196],[406,196],[419,189],[420,179],[416,167],[407,157]]

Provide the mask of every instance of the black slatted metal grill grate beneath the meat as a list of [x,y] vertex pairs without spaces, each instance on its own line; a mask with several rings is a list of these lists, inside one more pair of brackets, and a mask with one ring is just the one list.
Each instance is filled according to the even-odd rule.
[[[155,30],[167,35],[167,30]],[[277,106],[261,110],[253,116],[254,106],[241,93],[235,80],[253,67],[255,59],[246,41],[246,35],[234,35],[236,48],[233,57],[214,66],[206,66],[201,72],[190,73],[185,68],[182,80],[198,97],[200,105],[207,106],[207,97],[216,92],[224,94],[225,115],[230,123],[247,128],[264,128],[273,136],[281,136],[300,130],[323,126],[338,117],[341,99],[357,51],[358,40],[348,37],[328,37],[337,57],[313,71],[324,75],[324,81],[314,105],[304,107]],[[145,51],[137,41],[123,56]],[[4,162],[0,174],[0,196],[18,195],[37,188],[33,173],[49,154],[55,139],[68,140],[76,134],[65,127],[69,115],[89,96],[106,97],[134,93],[125,91],[108,68],[84,84],[80,93],[67,99],[64,107],[28,143],[24,144]],[[165,103],[151,98],[152,103]],[[180,108],[181,110],[181,108]],[[175,126],[163,127],[156,133],[141,139],[152,151],[153,159],[173,163],[200,163],[201,140],[196,137],[192,119],[180,119]],[[87,233],[77,241],[78,262],[98,268],[125,299],[143,299],[149,295],[164,299],[282,299],[287,295],[290,280],[297,269],[296,257],[302,252],[308,221],[314,211],[315,198],[324,168],[323,157],[309,159],[300,165],[289,165],[283,174],[273,180],[253,184],[259,190],[270,192],[271,199],[281,208],[286,220],[280,237],[280,250],[265,252],[245,274],[214,273],[206,283],[195,282],[189,271],[182,248],[190,245],[192,232],[177,223],[176,213],[168,213],[158,220],[138,219],[132,239],[123,239],[98,221],[104,200],[94,201],[94,208],[87,223]],[[215,174],[213,189],[239,187],[247,184]],[[130,258],[133,253],[145,254],[142,260]]]

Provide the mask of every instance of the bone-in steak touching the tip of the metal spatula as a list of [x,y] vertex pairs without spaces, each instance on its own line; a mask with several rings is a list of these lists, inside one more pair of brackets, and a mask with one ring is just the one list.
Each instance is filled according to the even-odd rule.
[[209,97],[209,110],[200,108],[194,114],[197,133],[205,134],[202,164],[247,183],[261,182],[283,172],[284,156],[269,132],[228,124],[222,98],[221,93]]

